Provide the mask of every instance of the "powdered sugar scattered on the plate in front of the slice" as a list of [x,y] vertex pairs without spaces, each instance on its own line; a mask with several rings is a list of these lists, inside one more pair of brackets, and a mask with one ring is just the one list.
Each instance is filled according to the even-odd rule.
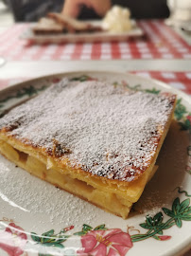
[[[16,210],[21,213],[23,211],[21,208],[23,208],[27,216],[31,216],[31,219],[36,214],[38,215],[37,226],[39,226],[39,222],[41,224],[48,222],[48,225],[57,223],[60,227],[66,227],[72,224],[75,227],[79,225],[79,228],[81,228],[81,222],[83,223],[85,220],[90,223],[98,219],[100,210],[97,210],[95,206],[68,192],[56,189],[20,168],[15,168],[2,156],[0,160],[0,202],[3,216],[14,216]],[[2,199],[4,201],[2,194],[11,199],[19,210],[18,208],[15,209],[15,206],[8,208],[8,203],[2,203]],[[8,210],[5,209],[5,212],[4,206],[6,209],[8,208]],[[39,229],[39,227],[37,228]]]

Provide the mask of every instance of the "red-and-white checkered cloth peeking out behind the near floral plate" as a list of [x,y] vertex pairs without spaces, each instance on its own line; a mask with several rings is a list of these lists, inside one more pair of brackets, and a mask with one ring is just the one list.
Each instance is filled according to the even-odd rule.
[[[131,73],[145,78],[153,78],[163,81],[171,85],[173,88],[180,89],[183,92],[191,95],[191,72],[136,71]],[[0,80],[0,89],[29,79],[31,78],[20,77],[9,80]]]

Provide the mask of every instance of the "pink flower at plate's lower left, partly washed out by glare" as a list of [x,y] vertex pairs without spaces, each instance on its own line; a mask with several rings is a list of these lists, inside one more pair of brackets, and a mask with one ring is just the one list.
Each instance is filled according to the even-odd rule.
[[9,256],[20,256],[24,253],[27,236],[24,229],[9,223],[9,226],[0,231],[0,248],[5,250]]

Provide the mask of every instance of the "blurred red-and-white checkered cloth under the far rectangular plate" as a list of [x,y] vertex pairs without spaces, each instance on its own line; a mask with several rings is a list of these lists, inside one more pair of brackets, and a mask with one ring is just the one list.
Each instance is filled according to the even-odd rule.
[[139,21],[145,36],[126,42],[34,45],[19,36],[29,24],[1,34],[0,55],[11,61],[191,59],[191,46],[163,21]]

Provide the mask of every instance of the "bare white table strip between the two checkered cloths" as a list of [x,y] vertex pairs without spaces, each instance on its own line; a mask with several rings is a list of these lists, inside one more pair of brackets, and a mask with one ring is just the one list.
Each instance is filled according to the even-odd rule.
[[[0,27],[0,33],[7,27]],[[0,65],[0,82],[17,78],[40,77],[68,71],[176,71],[191,73],[191,59],[175,60],[80,60],[80,61],[6,61]],[[190,82],[191,87],[191,82]],[[191,256],[191,251],[184,254]]]

